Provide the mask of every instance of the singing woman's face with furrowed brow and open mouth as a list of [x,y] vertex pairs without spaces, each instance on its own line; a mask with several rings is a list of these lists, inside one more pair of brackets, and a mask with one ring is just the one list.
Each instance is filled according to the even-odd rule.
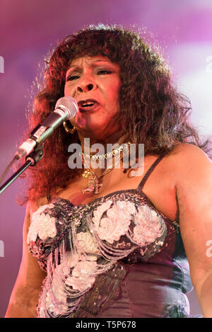
[[104,139],[119,130],[119,66],[107,57],[73,59],[66,72],[64,96],[78,103],[71,120],[84,137]]

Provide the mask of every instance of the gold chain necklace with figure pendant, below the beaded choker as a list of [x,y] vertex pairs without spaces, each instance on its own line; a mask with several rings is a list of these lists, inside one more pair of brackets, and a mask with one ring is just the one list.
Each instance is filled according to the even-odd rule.
[[[97,176],[92,168],[89,168],[88,170],[83,172],[83,178],[88,178],[87,187],[82,189],[83,194],[85,193],[93,193],[94,195],[98,195],[100,187],[102,187],[102,183],[100,183],[100,178],[102,176],[105,176],[107,173],[112,171],[112,169],[118,164],[118,162],[122,159],[123,153],[120,151],[119,159],[114,163],[112,163],[111,166],[105,169],[105,171],[100,175]],[[83,160],[83,158],[82,158]],[[85,163],[85,160],[83,161]]]

